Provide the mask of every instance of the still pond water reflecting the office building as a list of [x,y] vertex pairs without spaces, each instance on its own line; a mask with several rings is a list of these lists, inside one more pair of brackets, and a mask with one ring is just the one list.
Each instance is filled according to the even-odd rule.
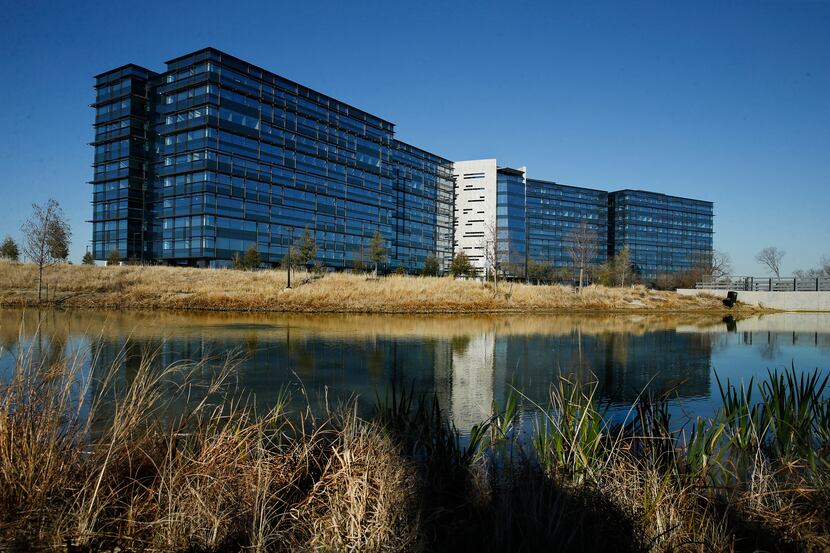
[[[435,394],[462,432],[503,405],[511,387],[544,404],[559,374],[594,378],[612,413],[643,390],[673,390],[678,420],[710,415],[717,374],[748,381],[794,364],[830,369],[830,314],[741,320],[675,315],[290,315],[0,310],[0,380],[15,355],[78,355],[95,378],[115,363],[129,382],[142,353],[155,363],[241,356],[237,394],[261,408],[281,390],[291,408],[354,399],[368,415],[393,380]],[[90,359],[97,357],[91,367]]]

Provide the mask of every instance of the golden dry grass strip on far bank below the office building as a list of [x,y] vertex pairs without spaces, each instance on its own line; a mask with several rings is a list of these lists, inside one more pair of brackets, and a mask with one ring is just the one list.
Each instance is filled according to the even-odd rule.
[[[448,277],[298,273],[286,289],[284,271],[204,270],[179,267],[59,265],[47,270],[46,304],[77,308],[192,309],[351,313],[464,313],[599,311],[717,311],[720,299],[679,296],[641,286],[492,284]],[[0,306],[37,305],[35,267],[0,263]],[[743,307],[741,309],[747,309]]]

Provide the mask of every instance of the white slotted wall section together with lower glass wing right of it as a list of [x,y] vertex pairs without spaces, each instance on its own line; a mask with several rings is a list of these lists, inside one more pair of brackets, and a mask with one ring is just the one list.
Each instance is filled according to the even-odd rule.
[[500,167],[495,159],[457,161],[455,178],[455,248],[480,272],[495,265],[523,277],[530,262],[572,269],[578,232],[595,244],[595,267],[628,246],[644,282],[711,263],[712,202],[533,179],[525,167]]

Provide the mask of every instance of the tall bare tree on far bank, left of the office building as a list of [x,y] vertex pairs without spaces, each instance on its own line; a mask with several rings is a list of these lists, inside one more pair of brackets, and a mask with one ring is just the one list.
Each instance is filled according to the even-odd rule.
[[43,294],[43,270],[46,267],[66,261],[69,257],[69,240],[72,231],[60,204],[49,199],[45,205],[32,204],[32,215],[23,223],[21,230],[26,241],[23,253],[37,265],[37,301]]

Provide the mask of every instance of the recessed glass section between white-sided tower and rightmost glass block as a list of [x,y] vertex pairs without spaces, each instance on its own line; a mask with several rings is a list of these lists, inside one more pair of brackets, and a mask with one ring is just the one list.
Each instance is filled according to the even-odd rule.
[[530,260],[554,268],[573,266],[571,236],[585,221],[596,237],[593,264],[607,259],[608,193],[552,181],[527,179],[527,248]]

